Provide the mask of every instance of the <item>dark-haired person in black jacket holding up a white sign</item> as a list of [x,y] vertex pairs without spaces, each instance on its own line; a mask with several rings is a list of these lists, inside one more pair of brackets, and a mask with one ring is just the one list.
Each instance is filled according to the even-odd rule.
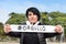
[[[28,21],[24,23],[25,25],[43,25],[40,22],[41,15],[40,11],[36,8],[29,8],[26,10]],[[4,32],[10,36],[20,37],[20,44],[46,44],[45,38],[58,35],[62,33],[62,26],[56,25],[56,33],[32,33],[32,32],[11,32],[11,28],[9,24],[6,25]]]

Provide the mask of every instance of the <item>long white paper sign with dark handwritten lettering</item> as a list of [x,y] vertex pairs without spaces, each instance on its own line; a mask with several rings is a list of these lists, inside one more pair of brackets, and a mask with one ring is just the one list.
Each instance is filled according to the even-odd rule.
[[54,25],[10,25],[12,32],[55,33]]

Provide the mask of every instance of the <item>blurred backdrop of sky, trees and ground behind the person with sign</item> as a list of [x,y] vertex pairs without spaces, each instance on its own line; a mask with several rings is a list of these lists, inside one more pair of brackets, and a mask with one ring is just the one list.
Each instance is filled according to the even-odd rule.
[[[4,24],[20,24],[26,21],[25,11],[35,7],[41,12],[41,22],[50,25],[61,24],[61,35],[46,38],[47,44],[66,44],[66,0],[0,0],[0,43],[19,44],[18,37],[4,35]],[[4,43],[8,42],[8,43]]]

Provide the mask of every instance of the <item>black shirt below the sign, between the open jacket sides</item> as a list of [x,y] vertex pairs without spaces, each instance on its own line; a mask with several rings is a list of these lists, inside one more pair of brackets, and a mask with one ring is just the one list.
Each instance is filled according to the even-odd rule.
[[25,33],[23,44],[40,44],[37,33]]

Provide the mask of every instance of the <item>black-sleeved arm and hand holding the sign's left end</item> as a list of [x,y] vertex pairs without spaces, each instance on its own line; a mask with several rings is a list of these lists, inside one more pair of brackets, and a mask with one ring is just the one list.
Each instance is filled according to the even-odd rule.
[[3,31],[4,31],[6,35],[9,35],[9,36],[14,36],[14,37],[21,36],[20,32],[11,32],[11,26],[9,24],[4,25]]

